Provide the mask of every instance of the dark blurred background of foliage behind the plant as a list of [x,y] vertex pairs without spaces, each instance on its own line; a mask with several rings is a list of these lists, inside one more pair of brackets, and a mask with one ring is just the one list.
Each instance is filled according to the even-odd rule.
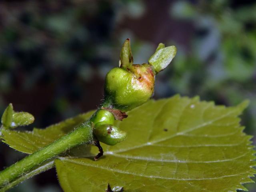
[[[159,42],[178,48],[154,98],[199,95],[227,106],[250,99],[242,124],[256,134],[255,0],[0,1],[0,114],[12,102],[44,128],[95,109],[126,38],[135,63]],[[0,149],[1,169],[24,156]],[[61,190],[50,170],[11,191]]]

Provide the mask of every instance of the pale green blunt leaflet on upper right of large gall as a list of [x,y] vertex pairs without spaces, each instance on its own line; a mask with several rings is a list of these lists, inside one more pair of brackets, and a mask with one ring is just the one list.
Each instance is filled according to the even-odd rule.
[[176,55],[175,46],[162,48],[164,44],[159,44],[156,52],[149,58],[148,63],[154,66],[156,73],[164,70]]

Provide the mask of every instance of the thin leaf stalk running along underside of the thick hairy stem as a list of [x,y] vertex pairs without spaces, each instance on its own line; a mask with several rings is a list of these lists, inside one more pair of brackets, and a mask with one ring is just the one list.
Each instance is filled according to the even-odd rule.
[[54,160],[47,161],[44,164],[36,167],[34,170],[31,170],[30,172],[20,176],[18,179],[14,180],[13,182],[8,183],[8,185],[0,189],[0,192],[5,192],[13,188],[14,186],[18,185],[19,183],[23,182],[24,180],[27,180],[28,178],[31,178],[32,176],[35,176],[44,171],[47,171],[53,167],[54,167]]

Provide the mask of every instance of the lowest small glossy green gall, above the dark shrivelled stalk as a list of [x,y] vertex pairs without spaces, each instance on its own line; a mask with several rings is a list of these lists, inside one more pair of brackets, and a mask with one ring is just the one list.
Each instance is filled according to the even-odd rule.
[[116,126],[104,124],[102,122],[99,122],[94,126],[93,134],[100,142],[107,145],[115,145],[126,138],[126,132],[121,131]]

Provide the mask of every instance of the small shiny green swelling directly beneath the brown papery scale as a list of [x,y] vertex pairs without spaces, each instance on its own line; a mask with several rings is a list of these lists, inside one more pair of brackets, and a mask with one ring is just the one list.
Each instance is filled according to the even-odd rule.
[[105,109],[98,110],[91,119],[92,123],[104,122],[104,124],[114,124],[115,116]]

